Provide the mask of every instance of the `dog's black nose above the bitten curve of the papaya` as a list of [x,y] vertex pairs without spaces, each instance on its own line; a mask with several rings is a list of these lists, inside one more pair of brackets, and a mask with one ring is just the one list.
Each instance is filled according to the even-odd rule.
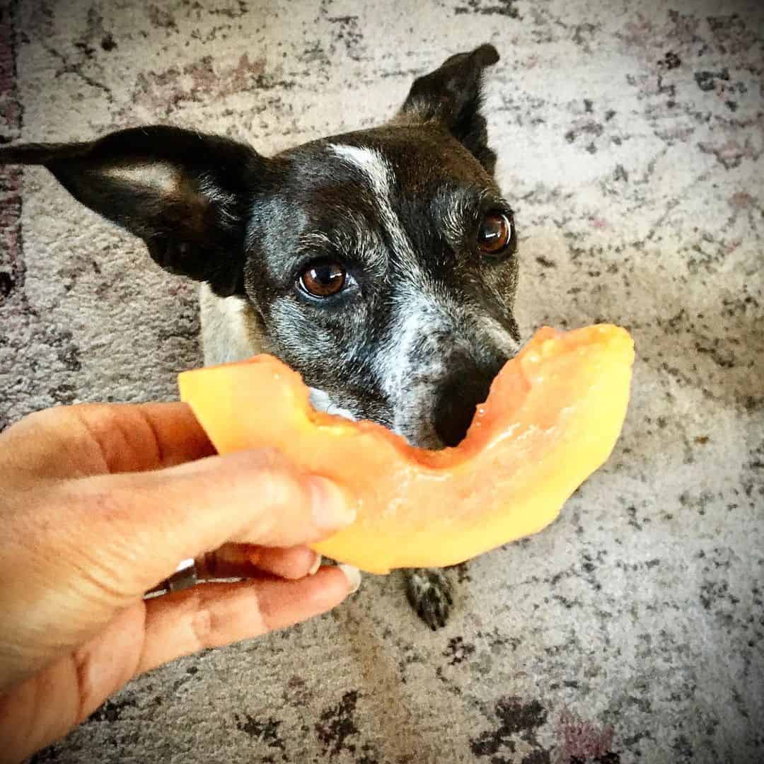
[[435,432],[445,445],[459,445],[464,440],[475,409],[488,397],[497,371],[472,367],[455,374],[442,387],[435,403]]

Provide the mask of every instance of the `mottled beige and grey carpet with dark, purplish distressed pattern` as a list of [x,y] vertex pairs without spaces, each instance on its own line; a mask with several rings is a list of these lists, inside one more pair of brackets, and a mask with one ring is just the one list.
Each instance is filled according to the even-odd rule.
[[[607,8],[607,10],[606,10]],[[37,762],[754,762],[764,757],[764,6],[657,0],[15,2],[0,136],[163,121],[264,153],[372,125],[492,40],[518,314],[628,326],[607,467],[539,536],[134,681]],[[175,397],[193,286],[43,170],[0,174],[0,428]]]

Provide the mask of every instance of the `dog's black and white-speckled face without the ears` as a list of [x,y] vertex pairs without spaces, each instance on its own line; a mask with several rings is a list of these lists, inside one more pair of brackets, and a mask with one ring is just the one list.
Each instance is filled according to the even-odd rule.
[[490,174],[422,126],[280,160],[244,266],[266,347],[354,417],[455,445],[517,342],[513,216]]

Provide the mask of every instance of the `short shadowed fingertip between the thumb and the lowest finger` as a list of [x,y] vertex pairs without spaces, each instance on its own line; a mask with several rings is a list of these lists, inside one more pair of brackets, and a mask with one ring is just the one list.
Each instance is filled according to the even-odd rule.
[[253,578],[270,573],[280,578],[303,578],[315,573],[320,563],[321,555],[306,546],[283,549],[224,544],[196,561],[196,575],[202,579]]

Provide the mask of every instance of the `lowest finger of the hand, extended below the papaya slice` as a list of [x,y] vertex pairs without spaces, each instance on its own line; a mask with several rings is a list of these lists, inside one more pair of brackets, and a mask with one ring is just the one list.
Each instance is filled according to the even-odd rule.
[[299,581],[200,584],[146,602],[144,649],[136,673],[180,656],[307,620],[340,604],[360,581],[358,571],[322,568]]

